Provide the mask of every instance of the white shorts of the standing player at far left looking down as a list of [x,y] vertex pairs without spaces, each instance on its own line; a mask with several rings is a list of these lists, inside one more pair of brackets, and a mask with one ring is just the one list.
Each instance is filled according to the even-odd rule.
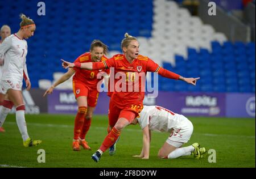
[[1,80],[0,86],[0,93],[2,94],[6,94],[9,89],[22,91],[22,82],[15,79]]

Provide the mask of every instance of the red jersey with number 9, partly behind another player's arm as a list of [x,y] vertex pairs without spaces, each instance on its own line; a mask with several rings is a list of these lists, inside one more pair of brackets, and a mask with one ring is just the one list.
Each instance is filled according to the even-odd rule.
[[[102,56],[101,61],[105,61],[108,58],[106,56]],[[79,56],[75,62],[86,63],[86,62],[93,62],[91,58],[90,52],[86,52]],[[75,63],[74,62],[74,63]],[[73,80],[79,80],[80,82],[84,82],[85,85],[89,88],[89,90],[96,90],[97,83],[102,79],[97,79],[98,73],[106,72],[109,74],[109,69],[107,70],[85,70],[80,68],[73,68],[76,71],[75,75],[73,76]]]

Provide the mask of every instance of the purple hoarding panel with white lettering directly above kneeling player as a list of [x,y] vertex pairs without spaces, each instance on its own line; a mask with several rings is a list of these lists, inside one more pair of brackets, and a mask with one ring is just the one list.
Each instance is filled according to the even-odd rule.
[[225,93],[159,92],[156,104],[184,116],[225,116]]

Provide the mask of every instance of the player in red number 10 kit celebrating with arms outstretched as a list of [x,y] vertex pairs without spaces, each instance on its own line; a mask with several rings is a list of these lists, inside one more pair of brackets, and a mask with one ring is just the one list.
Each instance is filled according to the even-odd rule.
[[[92,159],[98,162],[103,152],[112,146],[118,139],[124,127],[129,125],[134,118],[139,116],[143,109],[144,91],[141,90],[143,83],[138,76],[143,76],[147,71],[156,72],[166,78],[184,80],[187,83],[196,84],[199,78],[184,78],[180,75],[163,69],[146,56],[139,55],[139,42],[136,37],[125,34],[121,49],[123,54],[117,54],[104,62],[98,63],[69,63],[63,61],[63,67],[80,67],[82,69],[96,70],[114,67],[114,92],[109,102],[109,125],[112,130],[105,137],[100,148],[92,155]],[[110,70],[111,81],[112,70]],[[113,74],[112,74],[113,75]],[[119,76],[119,79],[118,79]],[[123,79],[124,80],[120,80]],[[122,82],[120,82],[122,81]],[[111,83],[111,82],[110,82]],[[128,90],[126,89],[128,87]],[[131,90],[131,87],[132,90]],[[133,89],[137,88],[135,91]],[[110,90],[113,86],[110,84]],[[121,90],[120,90],[121,88]]]

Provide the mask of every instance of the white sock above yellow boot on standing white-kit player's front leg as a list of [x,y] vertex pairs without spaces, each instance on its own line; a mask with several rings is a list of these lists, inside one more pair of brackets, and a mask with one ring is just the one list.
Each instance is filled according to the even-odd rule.
[[27,140],[27,123],[25,121],[25,111],[24,110],[17,110],[16,111],[16,122],[19,127],[19,132],[22,135],[23,141]]

